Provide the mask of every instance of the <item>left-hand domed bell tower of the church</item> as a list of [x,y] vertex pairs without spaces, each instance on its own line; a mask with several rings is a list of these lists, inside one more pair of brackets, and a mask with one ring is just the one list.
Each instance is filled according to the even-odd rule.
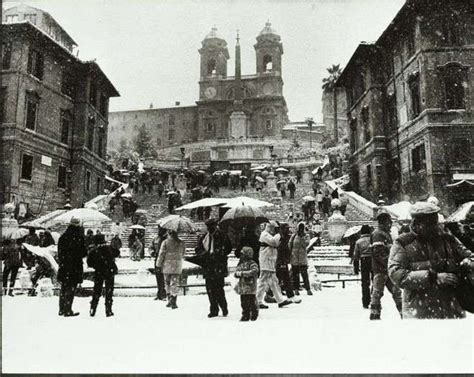
[[201,81],[227,77],[229,50],[227,42],[218,34],[215,26],[202,41],[199,54],[201,55]]

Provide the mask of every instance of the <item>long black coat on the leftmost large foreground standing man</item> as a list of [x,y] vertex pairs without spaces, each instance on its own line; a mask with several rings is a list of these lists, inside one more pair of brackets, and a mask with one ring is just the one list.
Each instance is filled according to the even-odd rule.
[[58,241],[58,281],[82,283],[82,259],[87,255],[82,227],[69,226]]

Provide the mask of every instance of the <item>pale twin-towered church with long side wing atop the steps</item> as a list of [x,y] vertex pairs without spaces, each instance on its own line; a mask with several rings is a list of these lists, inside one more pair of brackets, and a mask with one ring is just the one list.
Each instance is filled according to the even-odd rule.
[[[268,159],[268,146],[273,144],[278,153],[277,141],[288,124],[288,110],[283,96],[283,46],[269,22],[254,48],[256,73],[242,75],[237,37],[235,75],[230,76],[227,42],[212,28],[199,49],[196,106],[112,112],[114,136],[109,146],[117,148],[121,139],[130,140],[135,129],[145,124],[167,155],[178,156],[179,148],[173,147],[185,146],[191,161]],[[281,153],[283,149],[288,147]]]

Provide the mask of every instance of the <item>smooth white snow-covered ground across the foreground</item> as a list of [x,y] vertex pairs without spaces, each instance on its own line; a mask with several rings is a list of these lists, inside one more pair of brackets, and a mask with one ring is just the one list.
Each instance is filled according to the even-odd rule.
[[89,298],[81,315],[57,315],[57,297],[4,297],[5,373],[324,373],[474,372],[474,316],[402,321],[390,295],[381,321],[369,321],[360,285],[326,288],[286,308],[270,304],[256,322],[239,322],[239,297],[227,288],[230,314],[207,318],[205,295],[179,296],[179,309],[152,298],[117,297],[106,318]]

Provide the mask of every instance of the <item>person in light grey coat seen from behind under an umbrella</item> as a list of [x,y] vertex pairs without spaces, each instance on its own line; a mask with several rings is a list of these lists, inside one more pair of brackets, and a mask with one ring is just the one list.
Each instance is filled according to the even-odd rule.
[[186,252],[184,242],[178,238],[178,233],[168,230],[168,237],[162,242],[156,269],[163,273],[165,289],[168,296],[167,307],[177,309],[178,284],[183,271],[183,258]]

